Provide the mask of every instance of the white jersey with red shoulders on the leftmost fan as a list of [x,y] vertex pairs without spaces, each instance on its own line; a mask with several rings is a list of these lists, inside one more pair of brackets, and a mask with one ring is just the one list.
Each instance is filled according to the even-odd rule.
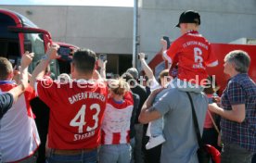
[[[14,86],[10,83],[0,84],[0,91],[6,92]],[[31,157],[40,144],[29,103],[32,97],[33,91],[29,88],[0,120],[0,153],[3,162],[17,162]]]

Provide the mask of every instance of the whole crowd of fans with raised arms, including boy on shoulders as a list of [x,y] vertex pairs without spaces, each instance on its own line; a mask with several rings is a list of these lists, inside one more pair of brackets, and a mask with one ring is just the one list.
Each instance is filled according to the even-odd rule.
[[224,73],[231,78],[217,94],[205,67],[217,66],[218,60],[199,25],[198,12],[182,13],[177,24],[182,36],[168,49],[161,40],[162,56],[172,66],[157,79],[143,53],[138,54],[143,78],[130,68],[106,79],[108,60],[98,60],[98,71],[96,53],[78,49],[70,74],[55,81],[47,72],[58,58],[58,44],[48,47],[31,75],[32,53],[22,56],[15,78],[10,62],[0,57],[0,162],[198,162],[188,94],[203,144],[222,150],[223,163],[250,163],[256,152],[250,56],[239,50],[225,56]]

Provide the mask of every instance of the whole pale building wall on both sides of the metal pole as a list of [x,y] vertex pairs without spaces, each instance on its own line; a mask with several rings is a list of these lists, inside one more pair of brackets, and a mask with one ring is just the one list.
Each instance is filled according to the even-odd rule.
[[[152,58],[160,51],[160,38],[179,37],[174,28],[187,9],[201,15],[200,32],[211,43],[256,38],[255,0],[142,0],[139,9],[139,51]],[[96,53],[133,53],[133,8],[104,6],[1,6],[19,12],[55,41],[91,48]],[[28,15],[31,11],[32,15]]]

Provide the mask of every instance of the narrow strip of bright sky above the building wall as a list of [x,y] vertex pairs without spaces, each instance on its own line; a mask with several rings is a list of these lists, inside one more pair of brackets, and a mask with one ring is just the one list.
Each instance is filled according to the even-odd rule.
[[134,0],[0,0],[1,5],[134,6]]

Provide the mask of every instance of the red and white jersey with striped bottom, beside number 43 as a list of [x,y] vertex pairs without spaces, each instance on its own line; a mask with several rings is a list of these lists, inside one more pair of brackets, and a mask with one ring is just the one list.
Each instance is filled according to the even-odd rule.
[[109,98],[102,124],[102,144],[130,143],[130,123],[134,109],[134,98],[131,92],[123,96],[118,103]]

